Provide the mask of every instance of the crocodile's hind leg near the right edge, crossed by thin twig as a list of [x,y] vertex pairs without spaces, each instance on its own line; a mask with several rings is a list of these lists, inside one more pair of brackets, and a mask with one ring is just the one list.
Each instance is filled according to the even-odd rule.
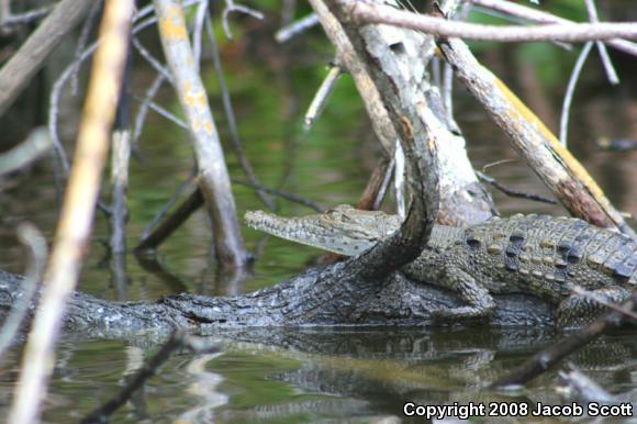
[[[624,302],[630,297],[630,292],[619,286],[608,286],[591,290],[591,293],[608,303],[616,304]],[[562,328],[580,327],[606,311],[608,311],[608,308],[591,299],[591,297],[571,294],[558,308],[558,326]]]

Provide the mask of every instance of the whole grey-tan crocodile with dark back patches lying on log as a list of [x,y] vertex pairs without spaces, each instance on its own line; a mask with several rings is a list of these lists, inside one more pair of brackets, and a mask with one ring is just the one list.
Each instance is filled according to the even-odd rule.
[[[246,213],[266,233],[346,256],[372,247],[401,225],[396,215],[336,207],[323,214],[281,217]],[[613,302],[637,286],[637,239],[572,217],[517,214],[459,228],[435,225],[421,256],[403,272],[455,291],[466,306],[434,311],[444,321],[487,319],[491,293],[521,292],[558,305],[561,325],[581,324],[603,306],[572,294],[573,286]]]

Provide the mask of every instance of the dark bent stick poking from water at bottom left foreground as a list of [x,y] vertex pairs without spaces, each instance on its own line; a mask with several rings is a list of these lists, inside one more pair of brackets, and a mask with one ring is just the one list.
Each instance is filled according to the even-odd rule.
[[161,346],[159,352],[157,352],[153,357],[150,357],[142,368],[137,370],[135,376],[128,381],[128,383],[111,400],[103,403],[101,406],[91,411],[86,415],[80,423],[81,424],[94,424],[103,423],[108,421],[113,412],[122,408],[150,377],[153,377],[159,367],[168,360],[170,355],[181,348],[187,348],[194,354],[213,354],[217,353],[219,348],[211,344],[210,341],[204,338],[194,337],[183,333],[182,331],[176,330],[168,342]]

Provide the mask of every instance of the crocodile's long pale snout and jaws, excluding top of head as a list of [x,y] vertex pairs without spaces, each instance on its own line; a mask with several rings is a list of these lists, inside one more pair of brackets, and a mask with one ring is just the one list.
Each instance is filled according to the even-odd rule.
[[335,224],[334,215],[329,212],[283,217],[264,211],[248,211],[245,220],[254,230],[345,256],[364,253],[385,235],[367,231],[356,223],[354,225]]

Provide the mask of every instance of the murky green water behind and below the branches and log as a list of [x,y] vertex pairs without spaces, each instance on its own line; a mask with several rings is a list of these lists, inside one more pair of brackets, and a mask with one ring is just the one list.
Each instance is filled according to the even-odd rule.
[[[377,147],[370,125],[349,77],[344,77],[318,124],[310,132],[301,129],[302,110],[324,71],[317,64],[329,58],[305,52],[300,41],[289,47],[287,58],[267,60],[269,42],[226,52],[226,69],[237,120],[248,158],[265,185],[308,197],[324,205],[353,203],[365,187],[375,164]],[[243,46],[243,47],[242,47]],[[244,48],[243,51],[241,48]],[[278,47],[276,47],[278,48]],[[254,57],[245,59],[245,57]],[[505,75],[522,75],[522,63],[506,67],[511,52],[488,54],[500,60]],[[277,62],[282,60],[282,62]],[[247,62],[247,64],[246,64]],[[627,67],[626,69],[630,69]],[[634,64],[633,64],[634,69]],[[628,79],[628,76],[626,75]],[[143,78],[141,78],[142,80]],[[506,78],[505,78],[506,79]],[[571,124],[572,149],[599,180],[615,205],[637,212],[637,152],[600,153],[593,141],[600,136],[637,138],[637,102],[628,94],[630,83],[611,90],[601,74],[585,74],[588,83],[575,101]],[[522,97],[532,97],[528,81],[507,79],[521,87]],[[546,92],[561,87],[543,88]],[[214,82],[210,76],[214,100]],[[137,92],[143,92],[139,85]],[[505,158],[515,158],[506,142],[468,98],[458,100],[458,121],[470,143],[477,168]],[[559,89],[561,96],[561,88]],[[164,94],[170,99],[169,91]],[[559,111],[559,96],[549,97],[545,113]],[[530,101],[530,100],[527,100]],[[168,104],[175,109],[176,103]],[[216,108],[221,123],[221,109]],[[222,129],[223,131],[223,129]],[[226,134],[224,134],[226,135]],[[224,137],[227,138],[227,137]],[[230,145],[225,146],[233,176],[242,177]],[[134,161],[131,175],[128,244],[134,245],[144,225],[164,205],[170,193],[191,171],[191,149],[183,132],[150,115],[141,143],[143,163]],[[491,168],[489,174],[521,191],[547,194],[538,179],[521,161]],[[27,176],[8,183],[0,198],[0,267],[23,271],[23,254],[13,235],[15,224],[34,222],[49,237],[57,217],[52,174],[45,161]],[[262,209],[252,190],[235,186],[237,205]],[[513,212],[563,213],[559,207],[507,198],[494,192],[503,214]],[[286,201],[280,213],[295,215],[309,210]],[[126,256],[128,284],[118,289],[109,269],[104,242],[107,224],[98,216],[79,289],[118,299],[153,301],[181,291],[225,294],[252,291],[283,280],[305,267],[318,252],[268,238],[244,228],[252,250],[262,247],[254,274],[243,281],[216,278],[210,263],[209,225],[197,213],[159,250],[163,272],[148,271],[132,255]],[[220,335],[221,354],[174,356],[144,390],[113,416],[113,422],[399,422],[402,405],[458,402],[546,402],[559,403],[556,373],[549,372],[515,392],[493,392],[483,387],[503,371],[549,345],[559,335],[550,328],[377,328],[377,330],[286,330],[255,331],[241,337]],[[141,361],[156,349],[145,337],[134,341],[66,337],[59,344],[53,383],[44,420],[69,423],[119,391]],[[0,416],[5,414],[20,369],[21,346],[15,346],[0,366]],[[605,336],[572,357],[572,364],[612,392],[637,395],[637,337],[630,332]],[[392,419],[393,417],[393,419]],[[382,421],[385,420],[385,421]],[[512,417],[474,417],[476,422],[515,422]],[[528,422],[562,420],[523,419]],[[586,421],[586,419],[584,419]],[[410,420],[406,420],[410,422]],[[415,422],[415,421],[414,421]],[[424,421],[422,421],[424,422]],[[448,421],[454,422],[454,421]],[[621,421],[619,421],[621,422]],[[624,422],[628,422],[627,419]]]

